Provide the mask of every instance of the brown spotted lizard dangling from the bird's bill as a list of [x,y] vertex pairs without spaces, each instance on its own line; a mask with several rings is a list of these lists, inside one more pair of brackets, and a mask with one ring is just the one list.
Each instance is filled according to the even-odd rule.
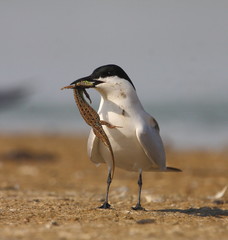
[[108,147],[108,149],[111,153],[111,156],[112,156],[112,163],[113,163],[112,178],[113,178],[114,170],[115,170],[114,154],[113,154],[113,150],[112,150],[110,141],[109,141],[102,125],[106,125],[109,128],[115,128],[116,126],[113,126],[106,121],[100,120],[100,116],[98,115],[98,113],[84,99],[83,93],[91,102],[89,94],[86,92],[85,88],[83,88],[83,87],[84,87],[83,82],[81,82],[81,84],[77,83],[76,85],[70,85],[70,86],[63,87],[61,90],[63,90],[63,89],[73,89],[74,90],[74,99],[78,106],[80,114],[82,115],[85,122],[93,128],[93,132],[96,135],[96,137],[99,138],[106,147]]

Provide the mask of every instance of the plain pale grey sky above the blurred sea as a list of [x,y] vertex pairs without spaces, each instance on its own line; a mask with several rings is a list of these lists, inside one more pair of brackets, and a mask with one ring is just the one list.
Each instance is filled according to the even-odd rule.
[[147,101],[227,99],[227,10],[221,0],[2,0],[0,87],[25,82],[66,101],[50,94],[115,63]]

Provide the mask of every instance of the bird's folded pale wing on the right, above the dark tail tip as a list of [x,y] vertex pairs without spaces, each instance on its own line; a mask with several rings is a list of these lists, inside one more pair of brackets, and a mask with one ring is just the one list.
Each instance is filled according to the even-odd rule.
[[136,128],[136,136],[143,151],[150,159],[153,168],[166,169],[164,146],[159,135],[159,127],[152,117],[143,121]]

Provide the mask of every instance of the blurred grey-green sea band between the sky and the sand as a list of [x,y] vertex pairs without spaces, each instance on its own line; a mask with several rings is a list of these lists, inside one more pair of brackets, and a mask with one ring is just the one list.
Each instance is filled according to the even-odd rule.
[[[98,100],[98,99],[97,99]],[[97,109],[99,100],[93,107]],[[228,146],[227,102],[143,102],[159,122],[166,144],[176,148],[223,148]],[[32,103],[1,111],[1,133],[38,132],[86,134],[89,126],[72,103]]]

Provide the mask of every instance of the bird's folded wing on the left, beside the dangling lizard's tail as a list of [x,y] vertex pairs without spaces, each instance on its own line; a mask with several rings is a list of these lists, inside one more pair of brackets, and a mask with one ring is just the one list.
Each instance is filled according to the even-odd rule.
[[95,136],[93,130],[91,130],[87,142],[87,153],[90,160],[95,164],[105,162],[99,152],[99,144],[100,140]]

